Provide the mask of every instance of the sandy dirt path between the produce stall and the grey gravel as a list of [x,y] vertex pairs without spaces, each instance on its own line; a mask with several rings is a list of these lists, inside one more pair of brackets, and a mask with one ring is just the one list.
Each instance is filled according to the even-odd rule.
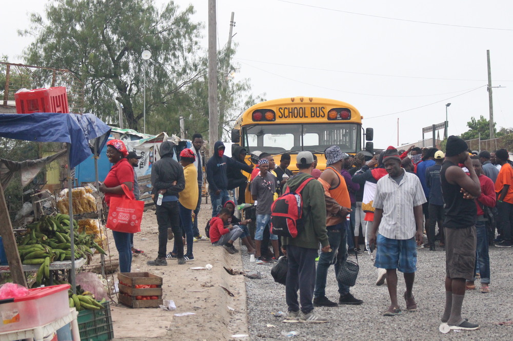
[[[200,233],[209,217],[210,205],[200,211]],[[110,231],[109,231],[110,232]],[[229,275],[223,267],[242,269],[241,253],[229,255],[208,241],[194,243],[194,257],[185,265],[168,260],[166,267],[150,267],[147,260],[156,257],[158,229],[154,211],[144,213],[141,233],[134,236],[136,248],[144,253],[133,257],[132,272],[151,272],[163,278],[164,299],[172,299],[175,311],[161,308],[131,309],[112,304],[115,340],[228,340],[232,334],[248,334],[246,288],[242,275]],[[112,258],[117,258],[112,235],[109,235]],[[172,242],[168,243],[168,251]],[[213,266],[212,270],[191,267]],[[115,275],[117,278],[117,275]],[[223,289],[226,288],[233,297]],[[231,310],[231,309],[233,310]],[[192,312],[194,315],[174,316]]]

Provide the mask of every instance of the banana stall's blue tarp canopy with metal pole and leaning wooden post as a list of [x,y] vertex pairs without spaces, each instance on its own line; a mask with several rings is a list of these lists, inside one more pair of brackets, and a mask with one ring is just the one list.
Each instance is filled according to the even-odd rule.
[[[98,155],[104,147],[110,127],[92,114],[63,114],[63,113],[32,113],[32,114],[0,114],[0,137],[23,139],[33,142],[61,142],[66,143],[68,157],[68,193],[72,193],[73,178],[71,169],[83,162],[91,154]],[[95,170],[97,174],[97,169]],[[96,176],[97,182],[97,176]],[[72,195],[69,195],[69,215],[73,216]],[[0,235],[4,244],[9,262],[9,270],[13,282],[26,286],[24,269],[18,254],[14,233],[5,202],[4,191],[0,184]],[[71,286],[75,286],[75,259],[73,240],[73,219],[69,221],[71,246]]]

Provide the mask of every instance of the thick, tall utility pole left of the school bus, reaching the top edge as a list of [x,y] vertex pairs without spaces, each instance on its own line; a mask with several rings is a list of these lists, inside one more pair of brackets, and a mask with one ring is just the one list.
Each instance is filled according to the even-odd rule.
[[216,45],[215,0],[208,0],[208,145],[210,156],[219,139],[218,58]]

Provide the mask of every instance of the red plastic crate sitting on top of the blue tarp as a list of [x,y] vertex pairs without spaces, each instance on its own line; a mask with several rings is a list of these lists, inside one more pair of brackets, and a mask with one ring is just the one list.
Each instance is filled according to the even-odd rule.
[[33,112],[69,113],[68,95],[65,87],[34,89],[14,94],[16,112],[31,114]]

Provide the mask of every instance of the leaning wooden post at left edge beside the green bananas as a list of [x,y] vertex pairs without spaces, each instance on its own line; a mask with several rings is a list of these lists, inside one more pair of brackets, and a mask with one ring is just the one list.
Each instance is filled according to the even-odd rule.
[[16,245],[16,239],[14,238],[14,232],[12,231],[11,218],[7,210],[2,184],[0,184],[0,222],[2,222],[0,224],[0,235],[2,235],[4,241],[12,282],[27,287],[27,279],[23,273],[22,260],[19,258],[18,247]]

